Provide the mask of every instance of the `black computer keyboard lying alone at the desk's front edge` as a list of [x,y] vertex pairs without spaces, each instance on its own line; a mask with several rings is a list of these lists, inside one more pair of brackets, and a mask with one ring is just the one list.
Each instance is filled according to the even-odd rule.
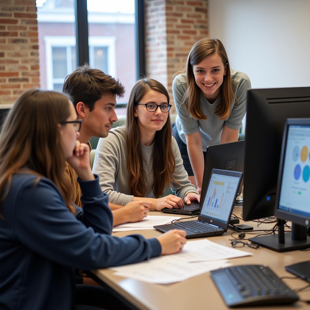
[[240,265],[210,272],[229,307],[290,304],[298,295],[263,265]]

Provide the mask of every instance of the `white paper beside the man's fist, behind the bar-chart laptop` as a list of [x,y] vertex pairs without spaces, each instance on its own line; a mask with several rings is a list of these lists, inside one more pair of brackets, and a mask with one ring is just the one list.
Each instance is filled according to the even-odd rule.
[[164,225],[171,223],[175,219],[180,219],[180,216],[163,216],[163,215],[148,215],[140,222],[124,223],[113,227],[113,232],[139,230],[139,229],[153,229],[153,226]]

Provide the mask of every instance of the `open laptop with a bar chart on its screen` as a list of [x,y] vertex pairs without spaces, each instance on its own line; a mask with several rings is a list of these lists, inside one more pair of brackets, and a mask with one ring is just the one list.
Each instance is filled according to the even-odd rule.
[[186,238],[200,238],[222,235],[227,231],[242,172],[213,169],[206,195],[201,201],[198,220],[177,222],[154,226],[167,232],[171,229],[183,229]]

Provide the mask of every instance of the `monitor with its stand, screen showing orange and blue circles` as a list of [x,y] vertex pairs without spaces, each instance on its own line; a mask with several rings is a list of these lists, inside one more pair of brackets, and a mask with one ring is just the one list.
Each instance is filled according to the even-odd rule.
[[[310,247],[310,118],[288,119],[284,126],[274,215],[278,234],[250,239],[279,252]],[[284,222],[292,231],[284,233]],[[309,262],[310,267],[310,262]],[[309,269],[310,270],[310,269]]]

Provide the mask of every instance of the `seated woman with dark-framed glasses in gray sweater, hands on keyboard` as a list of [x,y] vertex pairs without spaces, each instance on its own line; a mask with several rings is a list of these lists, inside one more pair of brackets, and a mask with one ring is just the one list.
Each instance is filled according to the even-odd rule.
[[[100,175],[101,189],[110,202],[125,206],[143,197],[150,209],[161,210],[199,201],[172,137],[170,107],[169,94],[160,82],[140,79],[129,97],[126,126],[100,138],[93,172]],[[168,186],[175,195],[164,196]]]

